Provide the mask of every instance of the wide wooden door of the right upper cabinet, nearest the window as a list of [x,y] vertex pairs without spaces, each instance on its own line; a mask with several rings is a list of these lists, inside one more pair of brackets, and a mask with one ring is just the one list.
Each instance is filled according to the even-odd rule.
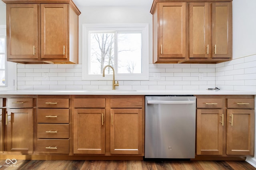
[[[161,58],[186,58],[186,2],[159,3],[159,50]],[[170,59],[169,59],[170,60]]]

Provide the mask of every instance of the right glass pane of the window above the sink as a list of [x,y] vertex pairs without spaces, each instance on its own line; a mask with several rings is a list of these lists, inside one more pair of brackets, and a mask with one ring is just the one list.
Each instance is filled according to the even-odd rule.
[[141,33],[118,33],[118,73],[141,73]]

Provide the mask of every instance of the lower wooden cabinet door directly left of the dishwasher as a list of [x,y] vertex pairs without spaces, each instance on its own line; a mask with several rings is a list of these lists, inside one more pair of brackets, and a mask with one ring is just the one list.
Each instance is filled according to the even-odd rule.
[[110,153],[142,154],[142,109],[111,109],[110,116]]

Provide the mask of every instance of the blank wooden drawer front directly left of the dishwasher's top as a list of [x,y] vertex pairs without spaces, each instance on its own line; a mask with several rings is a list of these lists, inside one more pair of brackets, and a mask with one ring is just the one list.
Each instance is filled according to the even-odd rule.
[[142,108],[142,99],[138,98],[115,98],[110,99],[111,108]]

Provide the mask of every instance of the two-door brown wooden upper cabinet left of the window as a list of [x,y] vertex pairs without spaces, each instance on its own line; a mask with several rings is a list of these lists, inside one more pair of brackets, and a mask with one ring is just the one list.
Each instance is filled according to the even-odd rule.
[[7,61],[23,64],[78,63],[78,16],[72,0],[3,0]]

